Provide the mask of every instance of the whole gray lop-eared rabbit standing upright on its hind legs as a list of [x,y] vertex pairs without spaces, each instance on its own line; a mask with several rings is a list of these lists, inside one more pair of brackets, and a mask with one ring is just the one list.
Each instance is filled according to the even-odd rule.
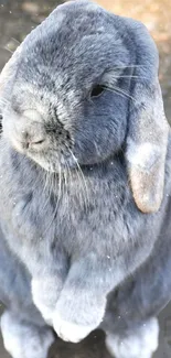
[[89,1],[60,6],[6,65],[0,97],[1,245],[38,346],[43,329],[46,355],[47,325],[73,343],[100,327],[111,356],[150,358],[171,295],[171,148],[148,31]]

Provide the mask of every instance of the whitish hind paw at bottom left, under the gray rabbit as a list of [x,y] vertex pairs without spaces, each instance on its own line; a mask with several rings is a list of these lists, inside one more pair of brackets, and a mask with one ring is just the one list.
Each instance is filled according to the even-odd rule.
[[49,327],[25,324],[10,312],[1,317],[3,344],[12,358],[47,358],[47,351],[54,341]]

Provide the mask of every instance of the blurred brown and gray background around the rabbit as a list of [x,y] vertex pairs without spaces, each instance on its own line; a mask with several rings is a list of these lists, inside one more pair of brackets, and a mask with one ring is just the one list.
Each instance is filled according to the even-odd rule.
[[[0,70],[25,35],[62,2],[64,1],[0,0]],[[159,77],[167,117],[171,122],[171,0],[97,0],[96,2],[116,14],[140,20],[149,29],[160,53]],[[162,312],[160,325],[160,346],[154,358],[171,358],[170,306]],[[0,340],[0,358],[8,357]],[[50,357],[109,358],[110,356],[105,349],[103,333],[96,332],[78,345],[57,340]]]

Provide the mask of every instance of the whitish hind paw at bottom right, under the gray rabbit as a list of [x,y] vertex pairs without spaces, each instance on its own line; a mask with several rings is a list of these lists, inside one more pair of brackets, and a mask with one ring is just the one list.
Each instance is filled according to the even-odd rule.
[[128,335],[107,335],[106,346],[115,358],[152,358],[158,348],[159,325],[151,318]]

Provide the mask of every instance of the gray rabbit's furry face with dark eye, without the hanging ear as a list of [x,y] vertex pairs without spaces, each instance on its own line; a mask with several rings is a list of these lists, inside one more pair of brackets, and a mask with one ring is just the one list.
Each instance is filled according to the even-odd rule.
[[3,112],[11,144],[52,172],[103,162],[126,135],[133,53],[111,14],[82,8],[58,7],[28,36]]

